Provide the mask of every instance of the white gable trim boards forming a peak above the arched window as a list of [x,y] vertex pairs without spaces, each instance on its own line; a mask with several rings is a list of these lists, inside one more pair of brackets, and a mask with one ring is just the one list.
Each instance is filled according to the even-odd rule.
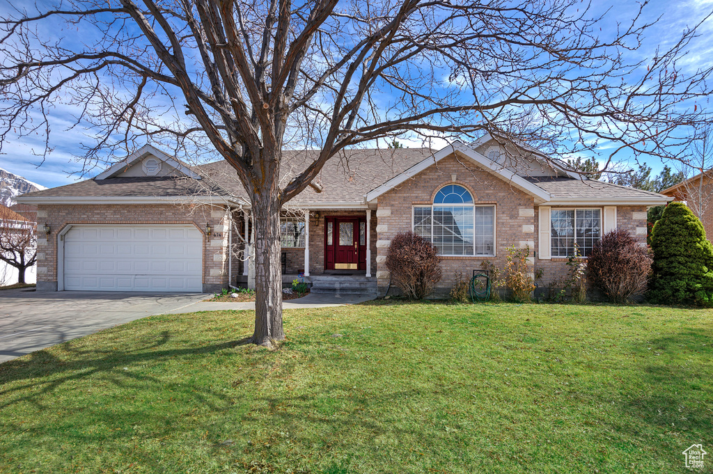
[[501,180],[511,183],[513,187],[516,187],[519,190],[525,192],[526,194],[535,197],[536,204],[539,204],[541,202],[547,202],[551,198],[550,193],[546,192],[542,188],[533,185],[533,183],[529,182],[528,180],[525,180],[525,178],[521,176],[518,176],[511,170],[503,168],[501,165],[498,165],[498,163],[488,160],[488,158],[476,152],[468,145],[464,145],[461,142],[456,142],[453,143],[453,145],[448,145],[446,148],[439,150],[438,152],[429,156],[429,158],[422,160],[420,163],[417,163],[408,170],[402,172],[400,175],[392,177],[383,185],[376,187],[376,189],[366,193],[364,199],[366,200],[366,202],[374,201],[377,197],[383,195],[385,192],[394,189],[394,187],[400,185],[402,182],[408,180],[411,177],[414,177],[415,175],[419,174],[419,172],[426,170],[426,168],[429,168],[429,166],[435,165],[439,161],[443,160],[443,158],[446,158],[453,154],[457,154],[459,156],[462,156],[463,158],[471,160],[471,162],[478,165],[479,168],[490,172],[492,175],[499,177]]

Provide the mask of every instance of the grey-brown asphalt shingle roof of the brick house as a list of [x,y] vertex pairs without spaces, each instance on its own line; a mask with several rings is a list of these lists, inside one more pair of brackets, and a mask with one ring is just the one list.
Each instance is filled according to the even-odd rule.
[[[317,158],[317,150],[284,151],[280,185],[304,170]],[[361,204],[367,192],[401,174],[431,155],[427,148],[386,150],[342,150],[322,168],[314,181],[322,192],[307,187],[289,203],[304,205],[319,202]],[[191,167],[203,177],[109,177],[85,180],[48,190],[29,192],[23,197],[183,197],[220,195],[245,200],[247,193],[237,173],[225,161]],[[609,182],[579,180],[572,177],[528,177],[525,179],[548,192],[553,198],[627,198],[665,197],[657,192],[642,191]]]

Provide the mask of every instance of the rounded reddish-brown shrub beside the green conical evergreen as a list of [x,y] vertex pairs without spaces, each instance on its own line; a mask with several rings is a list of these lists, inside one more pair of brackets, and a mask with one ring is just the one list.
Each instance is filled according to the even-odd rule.
[[625,303],[646,291],[651,257],[629,232],[617,229],[602,236],[587,259],[588,277],[612,303]]

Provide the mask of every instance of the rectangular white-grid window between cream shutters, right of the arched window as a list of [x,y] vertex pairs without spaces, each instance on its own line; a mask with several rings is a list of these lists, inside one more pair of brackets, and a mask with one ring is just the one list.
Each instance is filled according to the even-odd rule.
[[552,256],[569,257],[579,253],[588,257],[595,242],[602,238],[602,210],[553,209],[551,211]]

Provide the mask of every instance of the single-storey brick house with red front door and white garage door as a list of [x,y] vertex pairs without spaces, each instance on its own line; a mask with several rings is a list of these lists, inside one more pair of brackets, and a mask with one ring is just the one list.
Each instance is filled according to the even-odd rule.
[[[314,153],[286,151],[281,179]],[[146,145],[92,180],[18,200],[51,230],[38,243],[38,291],[212,292],[249,280],[250,202],[223,161],[188,166]],[[304,273],[317,292],[383,294],[389,242],[414,230],[443,254],[440,292],[483,261],[503,267],[513,245],[532,250],[547,284],[566,274],[575,242],[586,255],[618,227],[645,245],[647,207],[669,200],[489,135],[435,152],[344,150],[284,210],[283,273]]]

